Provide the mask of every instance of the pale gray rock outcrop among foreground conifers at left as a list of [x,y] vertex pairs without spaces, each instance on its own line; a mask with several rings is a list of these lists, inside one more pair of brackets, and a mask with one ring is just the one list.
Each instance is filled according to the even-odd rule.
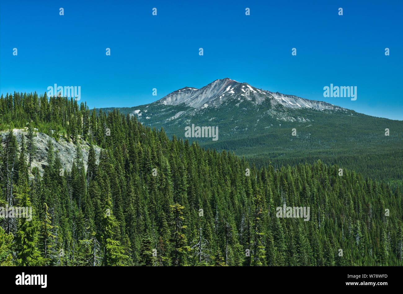
[[[25,129],[13,129],[12,130],[14,136],[17,138],[17,142],[18,142],[18,147],[21,148],[21,140],[22,140],[22,136],[25,136],[25,146],[27,144],[27,130]],[[2,136],[2,139],[4,141],[7,132],[1,132],[0,135]],[[58,142],[56,142],[55,139],[50,138],[48,135],[44,134],[44,133],[39,133],[39,132],[34,132],[34,135],[36,135],[36,137],[33,138],[34,144],[37,147],[35,156],[33,158],[33,161],[31,163],[31,169],[33,167],[38,167],[39,172],[41,174],[43,174],[44,172],[44,167],[46,165],[48,165],[47,161],[47,153],[48,153],[48,140],[51,139],[52,143],[53,143],[53,148],[54,148],[54,153],[56,155],[56,153],[58,153],[58,156],[60,158],[60,161],[62,162],[62,167],[64,169],[66,169],[67,171],[71,170],[71,167],[73,165],[73,159],[76,158],[77,154],[76,154],[76,149],[77,147],[71,143],[71,142],[67,142],[66,140],[60,138]],[[89,153],[89,143],[80,140],[79,143],[80,147],[81,147],[81,154],[83,155],[82,159],[83,159],[83,163],[85,166],[85,169],[87,169],[87,162],[88,162],[88,153]],[[95,150],[95,154],[98,158],[98,155],[100,153],[100,147],[95,146],[94,145],[94,150]],[[97,160],[98,161],[98,160]],[[98,162],[97,162],[98,163]]]

